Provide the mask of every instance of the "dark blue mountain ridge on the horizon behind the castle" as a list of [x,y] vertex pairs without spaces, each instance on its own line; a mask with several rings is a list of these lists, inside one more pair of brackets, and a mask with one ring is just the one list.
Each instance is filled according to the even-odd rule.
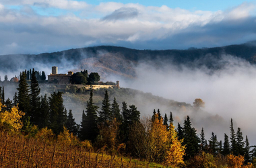
[[254,64],[256,62],[256,45],[255,42],[249,42],[187,50],[135,50],[119,46],[94,46],[42,54],[9,54],[0,56],[0,71],[5,73],[18,69],[30,69],[35,65],[38,67],[40,67],[39,65],[46,67],[55,65],[73,67],[77,71],[82,69],[98,71],[102,73],[103,77],[113,74],[133,78],[136,76],[134,67],[139,62],[150,61],[159,67],[161,62],[164,62],[193,67],[203,65],[211,69],[218,69],[221,65],[216,60],[219,60],[222,54],[230,54]]

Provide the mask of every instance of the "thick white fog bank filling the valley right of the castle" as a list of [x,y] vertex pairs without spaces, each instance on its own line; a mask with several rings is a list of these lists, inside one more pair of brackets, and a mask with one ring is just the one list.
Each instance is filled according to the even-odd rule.
[[[206,67],[189,68],[185,65],[164,65],[154,68],[152,62],[141,62],[136,68],[137,79],[132,82],[121,81],[122,87],[130,87],[153,95],[159,95],[175,101],[191,103],[195,98],[205,101],[205,114],[191,112],[192,126],[197,133],[204,128],[207,138],[212,132],[218,139],[224,138],[224,133],[230,134],[230,118],[234,129],[241,128],[243,135],[256,144],[256,67],[249,62],[230,55],[222,55],[216,60],[222,66],[218,70]],[[196,61],[195,61],[196,63]],[[139,100],[138,100],[139,101]],[[162,107],[159,107],[160,110]],[[152,115],[152,111],[148,115]],[[181,116],[181,114],[175,114]],[[221,117],[220,117],[221,116]],[[185,116],[181,119],[183,124]]]

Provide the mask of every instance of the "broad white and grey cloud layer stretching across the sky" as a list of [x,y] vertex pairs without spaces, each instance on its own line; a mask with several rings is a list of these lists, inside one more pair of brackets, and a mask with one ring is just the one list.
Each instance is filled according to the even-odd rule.
[[[5,36],[15,34],[15,38],[14,36],[6,38],[12,38],[13,42],[28,50],[30,46],[26,44],[31,40],[38,47],[44,46],[44,48],[55,45],[68,49],[71,46],[80,47],[84,44],[120,44],[120,42],[140,46],[140,42],[144,42],[143,46],[140,46],[142,49],[152,47],[152,49],[164,49],[211,44],[216,46],[234,40],[245,42],[254,37],[253,30],[245,31],[245,28],[253,28],[253,22],[245,23],[248,25],[236,24],[239,18],[245,21],[254,17],[251,13],[255,8],[249,3],[243,3],[227,11],[189,11],[172,9],[165,5],[146,7],[138,3],[108,2],[90,5],[71,0],[22,0],[21,2],[3,0],[1,3],[0,34]],[[10,4],[17,5],[21,9],[8,9],[4,6]],[[38,11],[33,8],[34,5],[49,12],[48,15],[36,14]],[[65,9],[66,12],[58,16],[51,15],[51,10],[47,11],[49,7]],[[73,10],[79,10],[81,13],[73,13]],[[222,26],[226,27],[222,28]],[[234,30],[240,32],[232,33]],[[223,32],[226,34],[223,35]],[[42,34],[45,38],[38,39]],[[54,43],[49,42],[47,37]],[[28,42],[21,38],[25,38]],[[0,44],[4,46],[5,42],[0,40]],[[40,52],[40,48],[37,49]]]

